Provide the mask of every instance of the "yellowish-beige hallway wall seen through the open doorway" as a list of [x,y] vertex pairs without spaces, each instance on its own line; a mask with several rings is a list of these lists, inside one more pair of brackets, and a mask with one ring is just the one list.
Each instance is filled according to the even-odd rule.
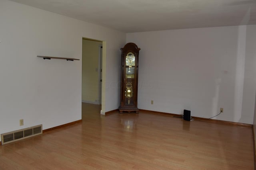
[[102,42],[83,39],[82,101],[99,104],[99,46]]

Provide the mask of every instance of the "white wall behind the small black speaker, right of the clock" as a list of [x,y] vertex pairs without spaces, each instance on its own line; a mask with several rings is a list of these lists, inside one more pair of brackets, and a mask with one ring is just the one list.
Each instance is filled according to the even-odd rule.
[[[253,123],[256,25],[127,33],[141,48],[140,109]],[[154,100],[154,105],[150,101]]]

